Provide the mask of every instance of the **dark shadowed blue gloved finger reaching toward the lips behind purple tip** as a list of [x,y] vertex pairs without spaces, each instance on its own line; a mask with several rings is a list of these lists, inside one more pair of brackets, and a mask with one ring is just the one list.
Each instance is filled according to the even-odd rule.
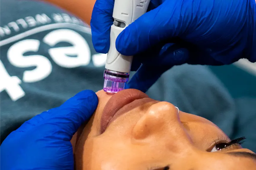
[[[169,47],[168,47],[169,46]],[[187,62],[189,51],[177,45],[167,44],[160,56],[151,60],[151,64],[142,64],[135,75],[127,83],[126,88],[134,88],[144,93],[161,77],[161,75],[174,65]]]

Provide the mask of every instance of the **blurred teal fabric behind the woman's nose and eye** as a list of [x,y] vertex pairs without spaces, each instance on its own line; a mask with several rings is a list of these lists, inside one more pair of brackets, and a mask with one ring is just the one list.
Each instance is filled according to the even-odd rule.
[[245,136],[243,147],[255,152],[255,85],[255,75],[235,64],[184,64],[165,72],[148,95],[212,121],[231,139]]

